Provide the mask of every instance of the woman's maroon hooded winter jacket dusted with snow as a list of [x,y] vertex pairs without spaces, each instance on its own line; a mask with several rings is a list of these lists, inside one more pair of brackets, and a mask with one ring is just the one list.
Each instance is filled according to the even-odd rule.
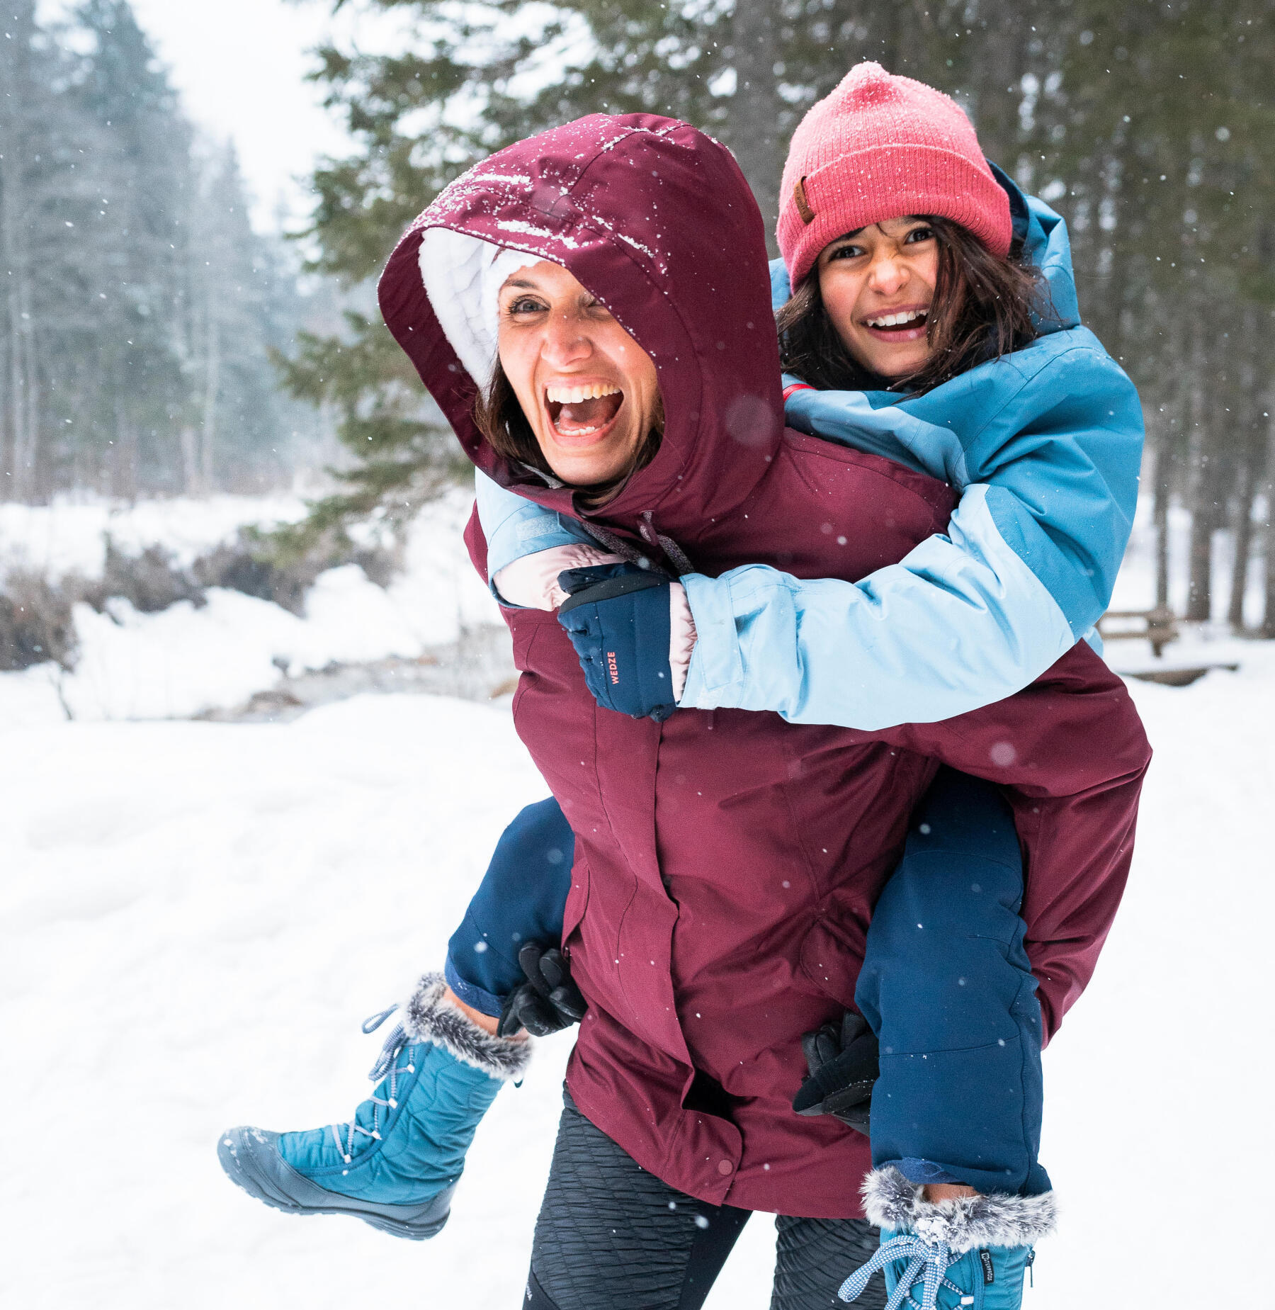
[[[381,280],[390,330],[473,462],[587,516],[476,430],[476,383],[422,282],[435,227],[565,265],[655,360],[664,440],[595,515],[609,529],[654,528],[709,575],[760,562],[847,580],[945,529],[943,483],[785,431],[761,219],[710,138],[594,115],[512,145],[439,195]],[[469,540],[482,571],[476,521]],[[563,930],[588,998],[577,1103],[692,1196],[862,1214],[866,1138],[790,1107],[801,1035],[853,1003],[873,905],[938,761],[1006,789],[1027,950],[1057,1027],[1119,903],[1149,760],[1122,683],[1081,643],[1018,696],[945,723],[861,732],[684,710],[655,724],[595,705],[554,614],[504,617],[518,732],[577,833]]]

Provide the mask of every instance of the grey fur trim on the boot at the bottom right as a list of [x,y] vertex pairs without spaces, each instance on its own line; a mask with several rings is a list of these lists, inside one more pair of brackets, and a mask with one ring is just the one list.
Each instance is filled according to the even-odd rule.
[[1034,1246],[1054,1233],[1057,1221],[1052,1192],[991,1192],[925,1201],[921,1184],[908,1182],[892,1165],[874,1169],[864,1179],[862,1192],[864,1212],[878,1227],[946,1242],[954,1255],[984,1246]]

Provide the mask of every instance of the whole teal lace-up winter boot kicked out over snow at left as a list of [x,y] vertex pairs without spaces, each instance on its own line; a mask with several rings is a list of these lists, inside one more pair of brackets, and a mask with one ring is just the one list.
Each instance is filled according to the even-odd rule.
[[396,1237],[434,1237],[478,1121],[531,1055],[528,1041],[484,1032],[444,986],[427,973],[406,1005],[363,1024],[372,1032],[398,1010],[370,1074],[376,1087],[347,1124],[223,1133],[218,1157],[231,1182],[291,1214],[352,1214]]

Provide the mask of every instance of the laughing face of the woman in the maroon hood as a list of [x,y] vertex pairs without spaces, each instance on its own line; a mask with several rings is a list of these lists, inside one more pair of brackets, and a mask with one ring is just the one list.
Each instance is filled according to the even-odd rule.
[[659,419],[651,356],[561,265],[519,269],[501,287],[498,347],[556,477],[620,477]]

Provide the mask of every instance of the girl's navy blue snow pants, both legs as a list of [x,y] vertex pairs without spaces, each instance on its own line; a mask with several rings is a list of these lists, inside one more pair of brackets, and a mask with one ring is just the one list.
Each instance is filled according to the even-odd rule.
[[[448,943],[447,981],[501,1013],[524,942],[558,942],[574,836],[552,798],[497,845]],[[881,1043],[873,1163],[916,1183],[1050,1189],[1040,1148],[1040,1006],[1013,814],[988,782],[940,770],[873,912],[856,1002]],[[797,1089],[794,1087],[795,1093]]]

